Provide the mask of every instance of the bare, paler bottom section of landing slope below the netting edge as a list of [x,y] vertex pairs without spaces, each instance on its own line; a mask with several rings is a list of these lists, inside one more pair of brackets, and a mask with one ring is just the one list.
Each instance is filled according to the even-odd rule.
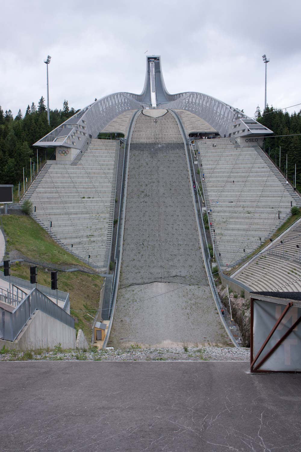
[[208,343],[231,344],[208,286],[153,282],[118,291],[110,346]]

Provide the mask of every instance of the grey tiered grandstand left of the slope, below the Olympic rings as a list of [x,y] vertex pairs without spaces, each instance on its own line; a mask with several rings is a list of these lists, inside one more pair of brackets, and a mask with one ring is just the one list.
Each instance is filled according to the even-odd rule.
[[99,270],[106,270],[110,254],[118,152],[119,141],[91,140],[75,165],[48,165],[28,194],[32,217]]

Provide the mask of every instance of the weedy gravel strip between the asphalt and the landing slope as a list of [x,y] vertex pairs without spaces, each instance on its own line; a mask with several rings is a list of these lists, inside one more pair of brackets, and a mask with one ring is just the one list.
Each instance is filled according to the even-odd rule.
[[[233,347],[105,349],[82,352],[59,349],[51,352],[0,353],[0,361],[250,361],[250,348]],[[37,353],[37,354],[35,354]]]

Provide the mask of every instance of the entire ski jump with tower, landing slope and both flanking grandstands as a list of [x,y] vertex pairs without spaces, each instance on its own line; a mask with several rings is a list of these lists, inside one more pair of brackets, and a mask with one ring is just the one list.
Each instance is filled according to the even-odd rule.
[[[120,145],[99,133],[125,139]],[[97,270],[109,275],[116,264],[103,300],[102,318],[110,320],[104,346],[110,334],[114,346],[238,345],[220,312],[201,212],[205,206],[223,269],[301,206],[259,147],[272,133],[206,94],[168,93],[160,56],[147,56],[141,94],[99,99],[35,143],[54,148],[56,160],[24,197],[33,216]]]

